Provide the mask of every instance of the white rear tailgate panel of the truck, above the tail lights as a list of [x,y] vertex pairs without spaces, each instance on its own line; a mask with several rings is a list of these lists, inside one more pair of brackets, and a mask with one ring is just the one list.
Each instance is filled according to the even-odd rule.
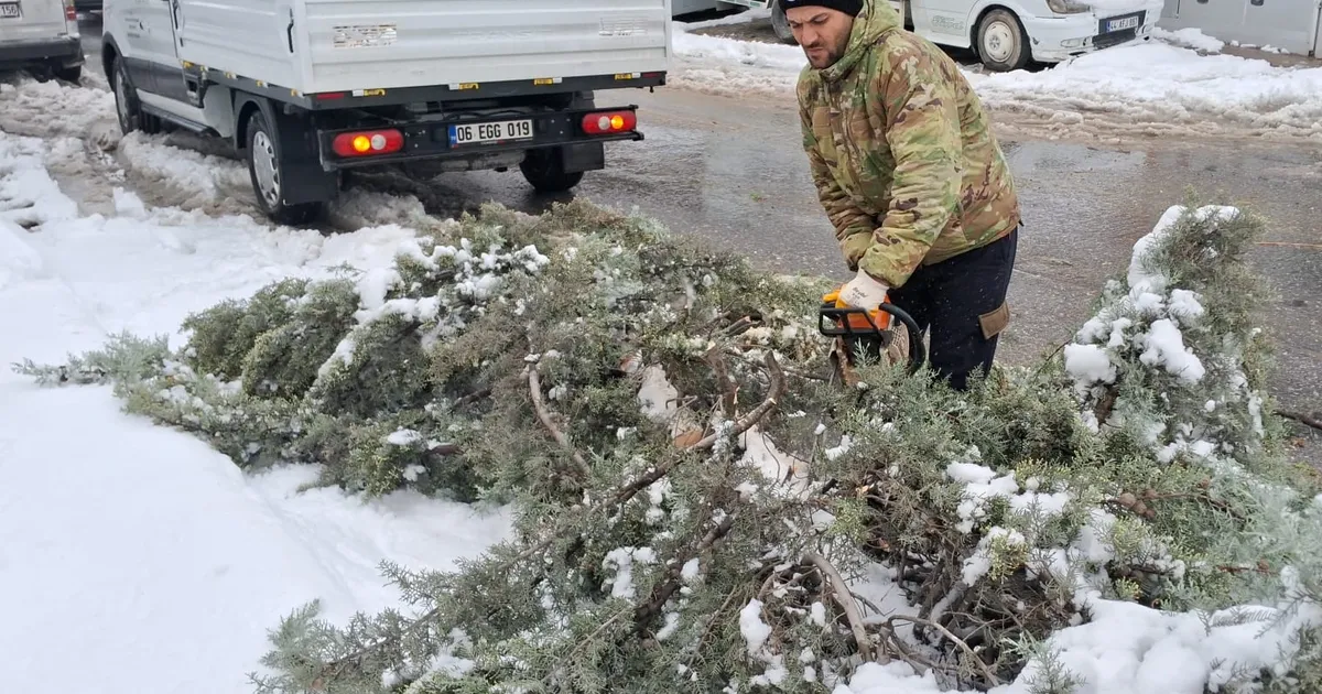
[[670,56],[669,0],[304,0],[303,11],[305,93],[664,71]]

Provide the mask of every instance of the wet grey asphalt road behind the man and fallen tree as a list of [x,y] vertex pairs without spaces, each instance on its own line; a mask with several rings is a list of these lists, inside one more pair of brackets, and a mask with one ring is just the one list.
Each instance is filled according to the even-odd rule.
[[[99,52],[98,34],[99,25],[85,24],[89,58]],[[89,62],[99,71],[95,58]],[[639,104],[646,139],[608,145],[607,168],[572,194],[637,208],[768,270],[847,278],[808,176],[792,100],[661,89],[603,93],[598,102]],[[1269,217],[1252,262],[1280,295],[1263,316],[1278,344],[1273,391],[1285,408],[1322,411],[1322,145],[1151,141],[1121,149],[1013,134],[1002,145],[1026,226],[1001,360],[1031,362],[1068,341],[1105,280],[1128,267],[1133,242],[1192,190]],[[395,184],[439,215],[486,201],[537,213],[571,197],[537,196],[517,171]]]

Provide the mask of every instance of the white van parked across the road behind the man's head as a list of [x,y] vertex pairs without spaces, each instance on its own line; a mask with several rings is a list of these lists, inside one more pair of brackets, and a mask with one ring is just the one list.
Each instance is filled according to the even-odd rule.
[[[989,70],[1052,63],[1109,46],[1149,41],[1165,0],[890,0],[904,26],[933,44],[973,49]],[[795,42],[777,0],[713,5],[771,8],[783,41]],[[697,8],[694,8],[697,9]]]

